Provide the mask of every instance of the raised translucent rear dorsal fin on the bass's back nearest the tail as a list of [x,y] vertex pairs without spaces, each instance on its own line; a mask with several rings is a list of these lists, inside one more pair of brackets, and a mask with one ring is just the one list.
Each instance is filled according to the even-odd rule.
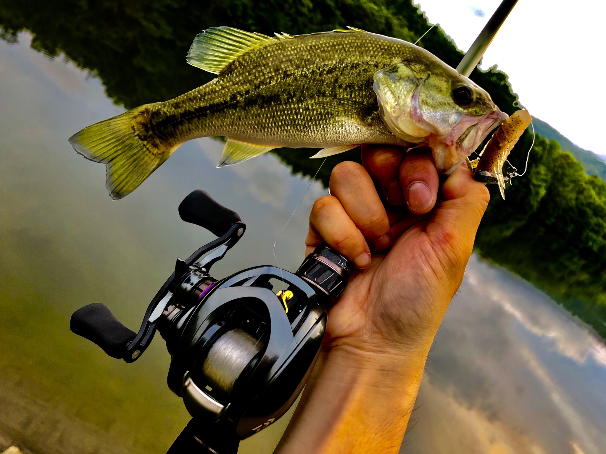
[[238,28],[212,27],[196,35],[187,53],[187,62],[209,73],[219,74],[243,54],[275,40]]

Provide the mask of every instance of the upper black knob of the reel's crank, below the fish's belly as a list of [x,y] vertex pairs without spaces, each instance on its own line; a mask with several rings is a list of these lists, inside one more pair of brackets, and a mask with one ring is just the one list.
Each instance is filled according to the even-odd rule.
[[190,192],[183,199],[179,205],[179,216],[185,222],[204,227],[218,237],[240,220],[238,213],[225,208],[201,189]]

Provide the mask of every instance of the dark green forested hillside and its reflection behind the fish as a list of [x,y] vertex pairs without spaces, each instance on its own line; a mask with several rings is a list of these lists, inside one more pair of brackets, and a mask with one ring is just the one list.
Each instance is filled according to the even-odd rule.
[[[90,70],[101,78],[108,96],[127,108],[170,99],[210,80],[210,74],[185,64],[185,55],[199,31],[216,25],[267,34],[351,25],[412,42],[430,27],[410,0],[0,3],[2,38],[14,41],[20,30],[30,31],[32,47],[49,56],[65,54]],[[453,67],[462,58],[439,27],[419,45]],[[505,73],[476,69],[471,78],[502,110],[516,110],[518,99]],[[530,134],[525,134],[511,155],[518,168],[524,168],[530,141]],[[275,153],[295,173],[309,175],[317,169],[318,163],[307,159],[312,151]],[[359,153],[330,158],[322,168],[322,181],[326,183],[332,166],[344,159],[359,159]],[[588,169],[602,175],[599,172]],[[492,201],[476,240],[478,252],[544,289],[606,338],[606,184],[597,176],[586,176],[581,163],[557,142],[538,136],[529,171],[507,189],[507,200],[491,189]]]

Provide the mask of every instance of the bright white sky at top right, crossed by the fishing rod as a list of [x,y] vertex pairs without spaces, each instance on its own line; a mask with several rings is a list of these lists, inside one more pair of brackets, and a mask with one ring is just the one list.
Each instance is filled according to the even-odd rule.
[[[416,2],[467,51],[501,0]],[[605,17],[601,0],[519,0],[481,64],[498,64],[533,116],[602,156]]]

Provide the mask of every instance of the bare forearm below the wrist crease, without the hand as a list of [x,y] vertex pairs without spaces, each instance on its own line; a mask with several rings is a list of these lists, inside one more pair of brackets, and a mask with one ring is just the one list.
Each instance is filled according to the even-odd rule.
[[397,453],[428,350],[323,353],[276,453]]

